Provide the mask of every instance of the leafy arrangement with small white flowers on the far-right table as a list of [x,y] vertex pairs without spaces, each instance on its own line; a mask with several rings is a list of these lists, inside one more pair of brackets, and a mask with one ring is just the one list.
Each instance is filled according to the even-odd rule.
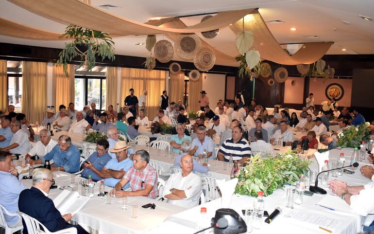
[[359,126],[347,126],[338,133],[338,144],[341,147],[358,147],[361,141],[369,141],[369,123]]

